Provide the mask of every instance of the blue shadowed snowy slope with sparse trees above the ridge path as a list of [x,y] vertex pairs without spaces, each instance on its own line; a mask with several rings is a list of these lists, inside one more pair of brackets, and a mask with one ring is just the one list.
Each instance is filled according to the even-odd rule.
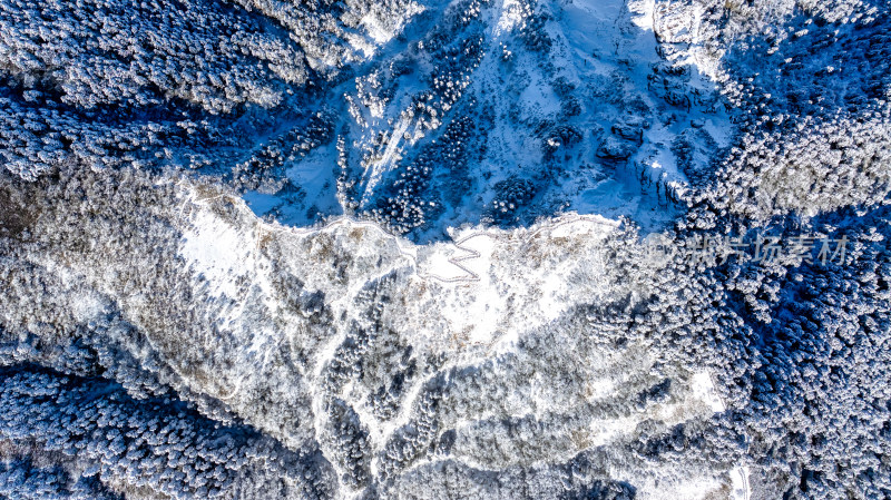
[[[336,139],[285,161],[307,194],[301,206],[312,207],[311,219],[372,216],[414,241],[569,210],[664,227],[687,171],[708,166],[675,151],[714,151],[733,127],[716,84],[659,56],[646,8],[621,0],[429,8],[403,41],[331,90]],[[332,171],[324,165],[335,150]],[[256,196],[246,199],[258,214],[306,223],[287,197]]]

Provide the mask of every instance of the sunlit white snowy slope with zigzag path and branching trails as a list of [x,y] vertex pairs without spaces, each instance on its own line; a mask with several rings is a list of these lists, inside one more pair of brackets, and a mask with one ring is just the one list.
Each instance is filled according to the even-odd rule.
[[[737,463],[685,455],[653,467],[634,451],[653,432],[711,425],[725,406],[707,366],[682,362],[655,331],[618,327],[628,307],[652,301],[666,263],[635,255],[617,223],[568,214],[417,246],[350,218],[265,223],[208,186],[167,192],[146,231],[174,265],[151,278],[154,293],[120,278],[146,261],[143,248],[108,241],[33,262],[67,284],[60,291],[80,290],[61,304],[78,322],[107,325],[111,310],[127,318],[133,330],[95,335],[126,353],[105,359],[109,370],[134,360],[130,384],[144,398],[169,386],[292,450],[319,448],[337,498],[444,498],[451,474],[468,481],[461,497],[518,494],[477,471],[538,474],[530,498],[591,481],[637,498],[731,492]],[[177,331],[182,316],[189,326]],[[590,469],[565,477],[579,460]]]

